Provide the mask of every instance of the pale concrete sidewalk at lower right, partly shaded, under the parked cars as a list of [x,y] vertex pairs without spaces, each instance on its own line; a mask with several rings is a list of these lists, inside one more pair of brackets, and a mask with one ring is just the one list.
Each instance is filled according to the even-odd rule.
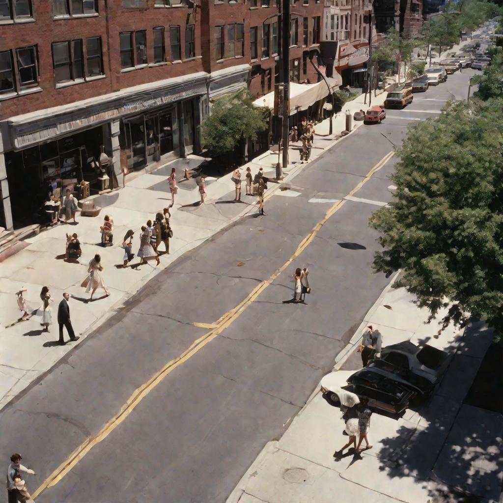
[[[336,460],[333,452],[347,441],[344,422],[317,387],[283,437],[265,446],[227,503],[499,501],[503,416],[463,404],[492,332],[478,323],[464,332],[448,327],[435,339],[437,324],[426,325],[427,312],[412,300],[405,290],[388,287],[320,384],[343,386],[361,368],[355,351],[363,327],[372,324],[385,346],[410,340],[454,353],[428,403],[406,410],[399,420],[373,414],[372,449]],[[462,491],[471,498],[464,499]]]

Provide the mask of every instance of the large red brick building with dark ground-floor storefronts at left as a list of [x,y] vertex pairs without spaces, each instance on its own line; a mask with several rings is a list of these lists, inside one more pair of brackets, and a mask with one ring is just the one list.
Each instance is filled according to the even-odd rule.
[[[291,7],[294,82],[318,80],[308,60],[323,8]],[[267,94],[279,76],[276,0],[5,0],[0,26],[8,229],[43,217],[49,192],[82,179],[92,193],[120,187],[123,172],[199,152],[212,100],[244,86]],[[94,162],[102,151],[113,158],[108,179]]]

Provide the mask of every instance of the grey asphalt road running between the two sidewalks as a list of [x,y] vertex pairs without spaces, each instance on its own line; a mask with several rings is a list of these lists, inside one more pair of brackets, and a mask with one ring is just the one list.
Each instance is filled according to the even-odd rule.
[[[38,473],[27,477],[33,492],[102,432],[38,502],[224,501],[264,444],[281,437],[388,283],[372,272],[378,235],[367,221],[378,208],[372,201],[391,198],[396,159],[290,259],[408,124],[436,116],[446,100],[466,99],[470,74],[450,75],[382,124],[359,128],[305,167],[291,190],[271,197],[267,216],[242,219],[147,284],[0,412],[3,464],[22,452]],[[307,305],[284,304],[295,268],[304,266]],[[200,338],[104,430],[135,390]]]

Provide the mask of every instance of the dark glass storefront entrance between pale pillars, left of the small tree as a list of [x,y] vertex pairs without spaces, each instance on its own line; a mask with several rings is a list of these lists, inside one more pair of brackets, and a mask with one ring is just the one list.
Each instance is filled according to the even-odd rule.
[[179,155],[176,108],[121,121],[119,142],[125,152],[127,171]]

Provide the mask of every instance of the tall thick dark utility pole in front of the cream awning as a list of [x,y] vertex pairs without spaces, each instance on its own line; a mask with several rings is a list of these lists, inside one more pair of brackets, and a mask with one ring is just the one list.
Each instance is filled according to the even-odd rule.
[[283,179],[283,169],[288,167],[288,133],[290,120],[290,1],[282,0],[281,14],[281,67],[283,68],[283,119],[282,119],[282,165],[276,165],[276,178]]

